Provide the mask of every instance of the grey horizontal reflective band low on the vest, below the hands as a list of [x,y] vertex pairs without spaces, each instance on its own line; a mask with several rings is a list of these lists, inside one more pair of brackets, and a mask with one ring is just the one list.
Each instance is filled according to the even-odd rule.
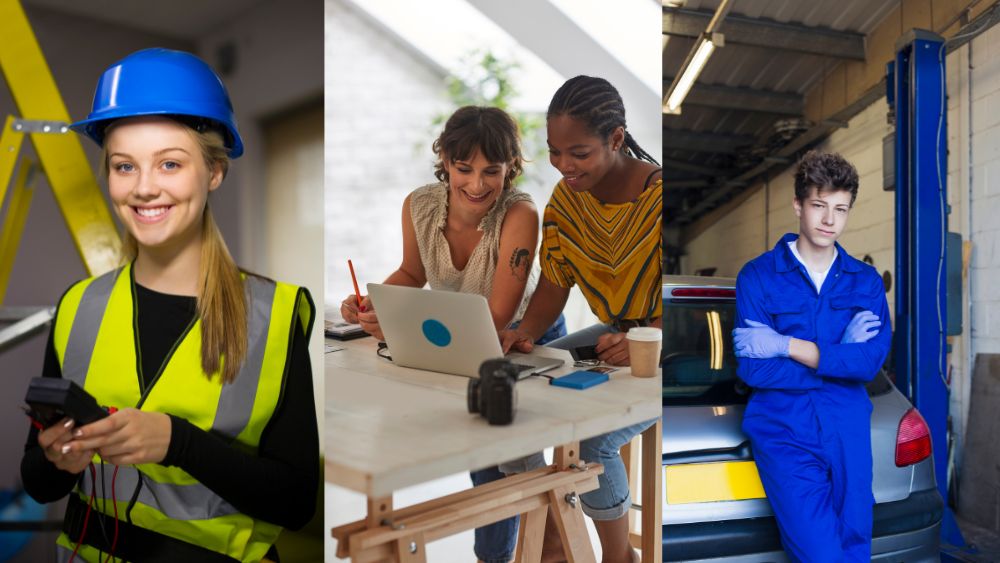
[[[111,480],[114,478],[116,498],[118,501],[128,501],[132,498],[136,485],[139,483],[139,476],[139,470],[132,466],[120,466],[118,477],[114,477],[114,469],[105,467],[104,487],[102,488],[98,484],[95,496],[111,500]],[[97,472],[97,478],[101,479],[100,471]],[[89,497],[91,492],[90,479],[82,481],[80,490]],[[222,497],[201,483],[172,485],[157,483],[149,477],[142,479],[142,489],[139,491],[138,501],[175,520],[207,520],[239,512],[233,505],[222,500]]]

